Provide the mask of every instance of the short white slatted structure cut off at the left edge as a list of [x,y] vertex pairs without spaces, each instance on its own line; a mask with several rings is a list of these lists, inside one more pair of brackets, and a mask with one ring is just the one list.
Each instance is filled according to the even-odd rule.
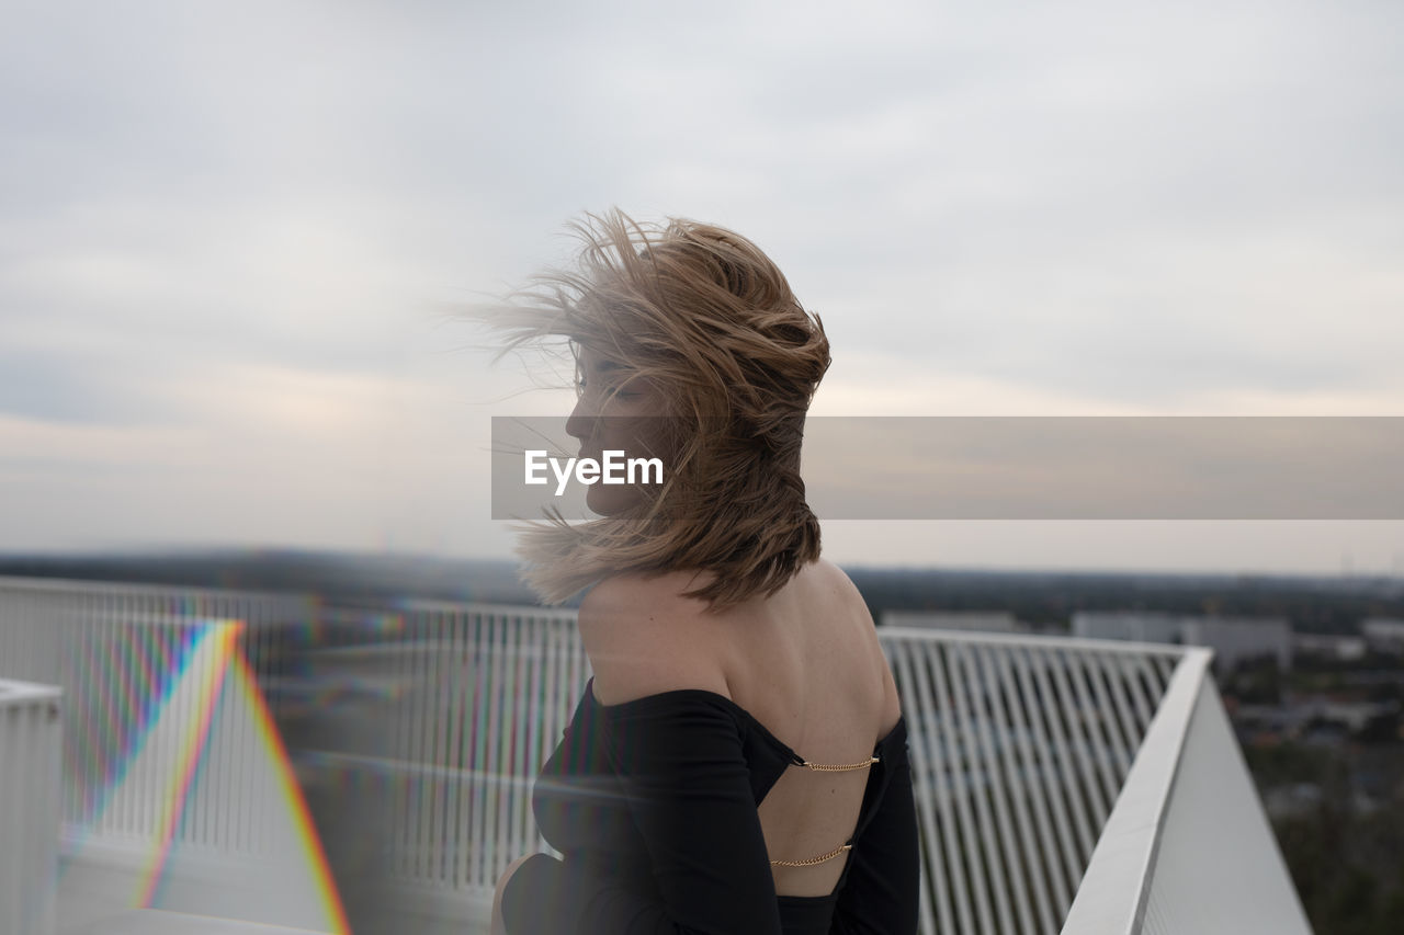
[[0,932],[51,935],[63,692],[0,681]]

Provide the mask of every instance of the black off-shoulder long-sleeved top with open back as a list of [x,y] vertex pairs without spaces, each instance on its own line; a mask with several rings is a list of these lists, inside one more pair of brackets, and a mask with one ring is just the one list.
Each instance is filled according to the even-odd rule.
[[724,695],[601,705],[594,684],[532,796],[538,854],[503,893],[508,935],[911,935],[917,820],[907,727],[878,741],[848,863],[828,896],[776,896],[757,806],[802,764]]

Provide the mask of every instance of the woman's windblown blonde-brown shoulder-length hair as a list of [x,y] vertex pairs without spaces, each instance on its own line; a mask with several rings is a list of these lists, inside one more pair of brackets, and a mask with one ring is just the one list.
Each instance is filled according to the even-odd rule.
[[804,413],[828,338],[750,240],[625,213],[574,225],[576,271],[552,271],[493,319],[507,347],[569,338],[667,399],[671,476],[646,503],[522,531],[528,583],[548,602],[614,574],[709,571],[688,592],[712,609],[769,595],[820,555],[804,501]]

